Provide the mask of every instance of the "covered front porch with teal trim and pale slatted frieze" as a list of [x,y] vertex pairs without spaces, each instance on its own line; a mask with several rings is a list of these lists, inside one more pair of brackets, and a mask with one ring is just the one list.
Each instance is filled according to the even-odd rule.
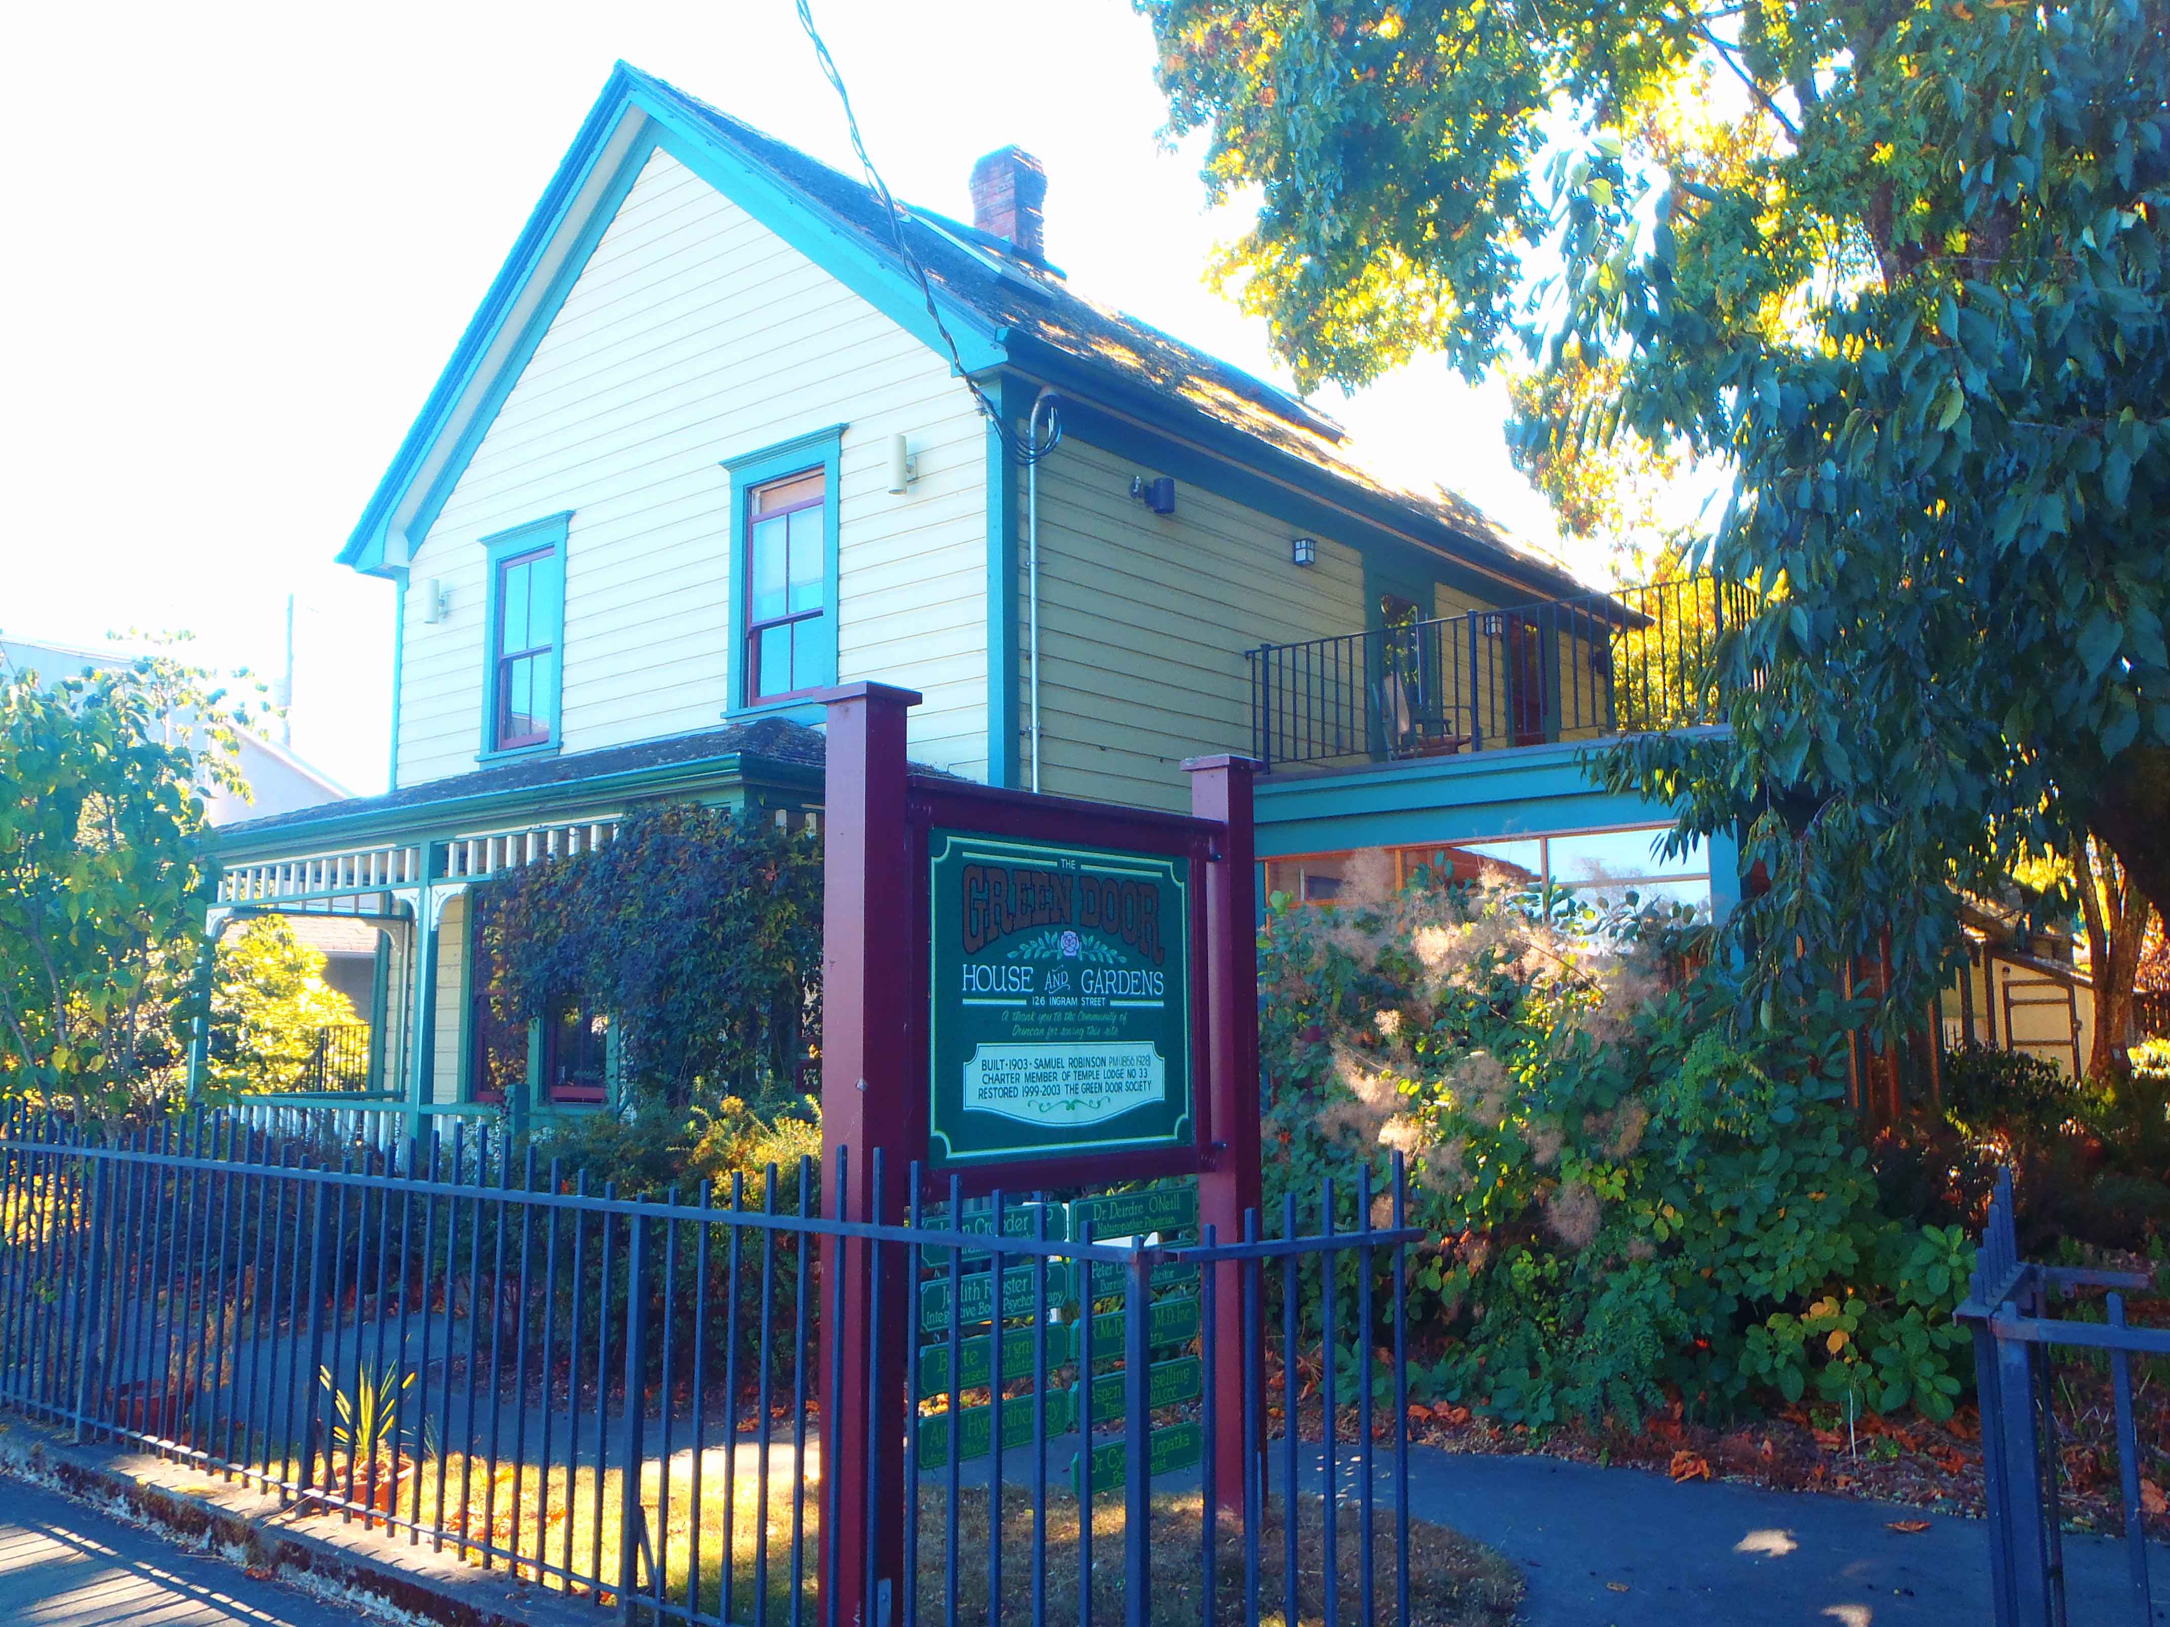
[[326,955],[354,1007],[278,1048],[200,1030],[191,1089],[239,1080],[258,1128],[332,1124],[391,1143],[434,1119],[579,1111],[616,1087],[605,1013],[501,1020],[490,1004],[493,885],[608,848],[638,805],[729,805],[788,829],[818,822],[820,738],[764,720],[638,746],[484,768],[384,796],[228,827],[210,941],[278,915]]

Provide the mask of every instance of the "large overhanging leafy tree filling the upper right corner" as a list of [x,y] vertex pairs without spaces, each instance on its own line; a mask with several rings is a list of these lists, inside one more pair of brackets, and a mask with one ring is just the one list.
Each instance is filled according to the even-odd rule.
[[1751,998],[1888,946],[1914,1020],[1953,887],[2083,831],[2170,902],[2170,9],[1141,9],[1306,384],[1519,343],[1732,464],[1734,738],[1606,772],[1749,827]]

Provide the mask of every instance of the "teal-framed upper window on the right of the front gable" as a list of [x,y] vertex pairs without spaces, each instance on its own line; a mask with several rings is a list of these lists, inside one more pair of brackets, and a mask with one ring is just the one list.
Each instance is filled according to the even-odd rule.
[[[729,712],[835,683],[844,425],[725,458],[731,477]],[[727,714],[729,716],[729,714]]]

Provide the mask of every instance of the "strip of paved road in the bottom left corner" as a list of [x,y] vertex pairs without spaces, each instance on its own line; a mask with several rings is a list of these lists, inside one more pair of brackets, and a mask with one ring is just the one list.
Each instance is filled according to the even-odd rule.
[[0,1623],[20,1627],[356,1627],[241,1566],[0,1479]]

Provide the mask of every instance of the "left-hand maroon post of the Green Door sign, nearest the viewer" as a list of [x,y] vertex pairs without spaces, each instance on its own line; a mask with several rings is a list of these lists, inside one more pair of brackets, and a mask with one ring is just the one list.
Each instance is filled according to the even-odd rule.
[[[829,705],[822,1213],[894,1226],[903,1224],[911,1161],[922,1152],[911,1141],[911,1126],[916,1096],[927,1089],[924,1052],[914,1056],[907,1043],[916,866],[905,816],[905,714],[920,696],[885,683],[846,683],[820,699]],[[875,1213],[872,1204],[877,1150],[885,1213]],[[833,1200],[844,1156],[848,1215]],[[870,1265],[879,1265],[879,1284],[868,1280]],[[911,1252],[825,1237],[820,1271],[822,1519],[833,1521],[835,1532],[833,1538],[822,1534],[822,1605],[833,1612],[835,1627],[888,1627],[911,1586],[903,1573],[909,1497],[903,1380],[916,1308]],[[888,1308],[879,1319],[870,1315],[875,1304]],[[872,1384],[877,1373],[879,1388]]]

